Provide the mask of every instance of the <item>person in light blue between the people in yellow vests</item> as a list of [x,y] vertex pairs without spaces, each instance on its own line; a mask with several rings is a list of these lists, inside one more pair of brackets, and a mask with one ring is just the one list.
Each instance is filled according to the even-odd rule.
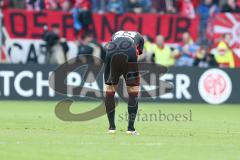
[[194,43],[189,33],[183,34],[183,44],[179,47],[179,58],[176,62],[177,66],[193,66],[194,57],[198,46]]

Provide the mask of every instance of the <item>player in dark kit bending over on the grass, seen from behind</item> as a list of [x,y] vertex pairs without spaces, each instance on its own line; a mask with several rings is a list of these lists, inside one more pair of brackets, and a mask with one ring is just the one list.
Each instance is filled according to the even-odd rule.
[[128,130],[127,134],[139,135],[134,128],[134,122],[138,111],[139,73],[136,66],[134,72],[128,65],[129,62],[137,62],[138,55],[143,52],[144,39],[138,32],[118,31],[112,36],[112,41],[106,45],[105,58],[105,106],[109,121],[109,133],[116,133],[115,125],[115,99],[119,78],[123,75],[128,99]]

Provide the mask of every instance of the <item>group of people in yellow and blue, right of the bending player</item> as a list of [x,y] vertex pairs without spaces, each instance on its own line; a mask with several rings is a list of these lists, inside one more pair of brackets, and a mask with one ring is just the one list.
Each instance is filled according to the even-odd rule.
[[221,67],[235,68],[234,52],[230,47],[230,35],[224,35],[214,46],[198,45],[184,33],[182,43],[171,46],[164,37],[158,35],[155,40],[145,36],[145,46],[140,61],[155,62],[164,66]]

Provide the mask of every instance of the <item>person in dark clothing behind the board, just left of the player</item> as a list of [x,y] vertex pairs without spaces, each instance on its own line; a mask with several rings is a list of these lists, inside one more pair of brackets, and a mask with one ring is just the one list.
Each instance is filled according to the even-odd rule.
[[[94,36],[91,33],[84,33],[78,45],[78,55],[91,55],[101,58],[101,48],[94,42]],[[97,63],[93,58],[84,59],[83,63]]]

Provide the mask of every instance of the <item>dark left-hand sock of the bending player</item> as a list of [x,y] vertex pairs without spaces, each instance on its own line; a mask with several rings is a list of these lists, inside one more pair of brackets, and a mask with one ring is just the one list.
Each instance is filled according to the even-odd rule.
[[115,99],[113,93],[107,93],[105,98],[105,106],[109,121],[109,130],[115,130]]

